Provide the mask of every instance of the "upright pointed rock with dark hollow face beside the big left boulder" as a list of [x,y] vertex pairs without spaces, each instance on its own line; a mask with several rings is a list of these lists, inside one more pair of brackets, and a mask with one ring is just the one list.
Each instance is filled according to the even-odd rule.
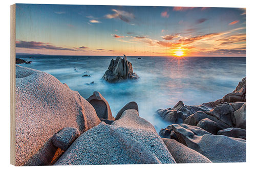
[[94,107],[99,118],[114,120],[108,101],[98,91],[94,91],[93,95],[87,101]]

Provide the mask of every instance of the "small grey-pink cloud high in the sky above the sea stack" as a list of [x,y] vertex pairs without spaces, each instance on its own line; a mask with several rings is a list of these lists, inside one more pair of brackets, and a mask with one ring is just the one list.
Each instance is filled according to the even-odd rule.
[[116,10],[116,9],[112,9],[112,11],[114,12],[113,14],[107,14],[105,15],[105,17],[108,19],[119,18],[122,21],[127,23],[129,23],[132,19],[135,18],[134,14],[130,12]]

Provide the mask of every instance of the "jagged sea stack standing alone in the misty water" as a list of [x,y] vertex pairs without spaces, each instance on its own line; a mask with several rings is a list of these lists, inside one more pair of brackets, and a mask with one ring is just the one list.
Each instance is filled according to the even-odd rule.
[[106,70],[102,79],[110,83],[120,82],[126,79],[139,79],[139,76],[133,72],[133,66],[126,56],[123,58],[117,57],[115,60],[111,60],[108,70]]

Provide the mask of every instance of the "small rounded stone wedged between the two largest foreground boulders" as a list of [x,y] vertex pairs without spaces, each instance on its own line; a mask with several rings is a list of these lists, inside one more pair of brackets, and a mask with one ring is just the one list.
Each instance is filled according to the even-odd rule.
[[52,143],[55,147],[66,151],[78,136],[80,136],[80,131],[77,128],[66,127],[53,136]]

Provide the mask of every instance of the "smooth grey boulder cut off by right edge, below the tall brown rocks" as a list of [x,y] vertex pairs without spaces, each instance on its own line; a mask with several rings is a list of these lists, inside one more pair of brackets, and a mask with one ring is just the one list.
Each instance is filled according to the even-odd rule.
[[237,128],[246,129],[246,103],[237,111],[234,111],[234,119]]

